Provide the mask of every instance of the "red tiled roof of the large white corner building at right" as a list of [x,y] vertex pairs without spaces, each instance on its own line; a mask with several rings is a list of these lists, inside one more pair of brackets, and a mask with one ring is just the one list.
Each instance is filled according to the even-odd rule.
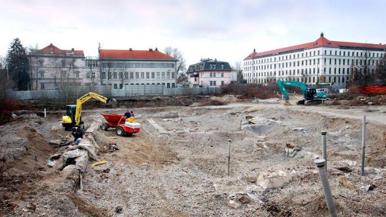
[[339,46],[349,46],[349,47],[362,47],[362,48],[381,48],[381,49],[386,49],[386,44],[367,44],[367,43],[355,43],[355,42],[341,42],[341,41],[330,41],[327,38],[321,34],[321,36],[313,42],[308,42],[300,45],[295,45],[295,46],[290,46],[286,48],[280,48],[272,51],[265,51],[265,52],[252,52],[249,54],[244,60],[247,59],[252,59],[255,56],[262,56],[262,55],[267,55],[267,54],[275,54],[279,52],[284,52],[284,51],[293,51],[293,50],[298,50],[298,49],[311,49],[311,48],[317,48],[317,47],[339,47]]

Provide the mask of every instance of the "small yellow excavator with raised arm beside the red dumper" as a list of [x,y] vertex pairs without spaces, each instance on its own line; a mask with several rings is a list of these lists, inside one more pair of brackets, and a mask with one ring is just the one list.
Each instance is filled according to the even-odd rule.
[[76,105],[66,106],[66,115],[62,117],[62,126],[64,130],[71,131],[74,127],[81,127],[83,130],[84,123],[82,121],[82,105],[90,99],[96,99],[106,104],[106,107],[111,105],[111,101],[116,102],[115,99],[106,98],[96,93],[89,92],[83,97],[77,99]]

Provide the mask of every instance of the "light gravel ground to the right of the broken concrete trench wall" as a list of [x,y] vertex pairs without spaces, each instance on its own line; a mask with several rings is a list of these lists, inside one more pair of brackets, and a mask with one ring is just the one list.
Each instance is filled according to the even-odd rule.
[[[31,199],[26,197],[16,213],[117,217],[329,216],[313,163],[321,155],[320,132],[325,130],[329,182],[338,215],[385,216],[386,134],[385,125],[377,121],[383,120],[384,114],[366,113],[367,164],[366,176],[362,177],[358,173],[360,117],[365,109],[294,104],[285,107],[274,101],[136,109],[140,133],[119,137],[113,129],[96,132],[101,149],[116,143],[119,150],[99,153],[98,160],[108,163],[88,167],[83,190],[62,192],[61,186],[54,183],[58,182],[55,177],[63,174],[53,171],[31,193],[37,201],[36,210],[30,211]],[[95,112],[87,117],[89,122],[96,119]],[[105,112],[123,113],[116,109]],[[228,139],[232,140],[230,176],[226,171]],[[279,176],[275,182],[268,182],[276,188],[262,185],[261,181],[270,176]],[[370,184],[375,187],[366,191]],[[244,200],[240,195],[245,195]],[[240,199],[234,199],[235,196]],[[230,200],[243,203],[235,209],[228,206]]]

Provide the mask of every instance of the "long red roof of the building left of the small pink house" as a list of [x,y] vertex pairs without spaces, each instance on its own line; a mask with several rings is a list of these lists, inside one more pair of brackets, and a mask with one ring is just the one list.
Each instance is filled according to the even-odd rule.
[[99,50],[99,58],[102,59],[170,59],[173,57],[156,50]]

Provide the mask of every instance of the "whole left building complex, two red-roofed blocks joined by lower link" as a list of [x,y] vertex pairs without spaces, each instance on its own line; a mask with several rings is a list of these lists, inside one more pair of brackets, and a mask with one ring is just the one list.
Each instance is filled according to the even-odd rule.
[[163,84],[176,86],[176,59],[157,49],[99,50],[85,57],[80,50],[61,50],[53,44],[29,54],[31,89],[56,89],[69,85]]

